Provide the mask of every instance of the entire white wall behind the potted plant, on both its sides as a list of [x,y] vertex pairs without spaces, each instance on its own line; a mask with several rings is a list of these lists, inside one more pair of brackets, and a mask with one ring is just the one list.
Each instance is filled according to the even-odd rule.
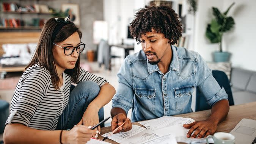
[[255,0],[198,0],[198,11],[195,17],[195,51],[199,52],[206,61],[212,61],[212,52],[218,50],[218,44],[210,44],[205,36],[207,23],[213,17],[212,6],[223,12],[232,2],[236,4],[231,8],[228,16],[232,16],[236,24],[232,31],[224,34],[223,50],[231,52],[233,67],[256,70],[253,59],[256,53]]

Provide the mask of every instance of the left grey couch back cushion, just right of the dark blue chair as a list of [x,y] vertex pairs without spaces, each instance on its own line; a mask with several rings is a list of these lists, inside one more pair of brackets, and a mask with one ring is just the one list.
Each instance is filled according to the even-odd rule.
[[253,74],[252,71],[240,68],[232,68],[231,83],[234,88],[245,90],[248,81]]

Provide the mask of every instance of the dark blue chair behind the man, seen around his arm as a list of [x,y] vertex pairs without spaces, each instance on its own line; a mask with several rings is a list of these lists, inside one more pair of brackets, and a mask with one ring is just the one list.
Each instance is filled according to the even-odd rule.
[[[225,74],[225,72],[219,70],[212,70],[212,75],[218,82],[220,87],[223,87],[226,93],[228,94],[229,105],[234,105],[234,100],[228,76]],[[196,111],[203,111],[209,109],[211,109],[211,107],[206,103],[204,95],[199,91],[199,89],[196,89]]]

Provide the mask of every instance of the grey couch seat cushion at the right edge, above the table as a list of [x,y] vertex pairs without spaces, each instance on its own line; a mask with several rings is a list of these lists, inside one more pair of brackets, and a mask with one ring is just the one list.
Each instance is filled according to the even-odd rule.
[[239,91],[239,92],[233,92],[232,95],[233,95],[235,105],[256,101],[256,94],[251,92]]

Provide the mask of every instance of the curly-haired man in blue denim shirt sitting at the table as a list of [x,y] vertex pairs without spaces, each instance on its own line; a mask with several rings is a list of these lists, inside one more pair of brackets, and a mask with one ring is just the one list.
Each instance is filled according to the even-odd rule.
[[142,50],[127,56],[118,72],[112,130],[124,121],[117,133],[132,128],[127,118],[130,108],[133,122],[192,112],[192,93],[198,86],[212,113],[205,121],[183,126],[190,128],[187,137],[191,138],[214,133],[228,114],[227,94],[198,53],[172,45],[182,36],[178,15],[167,6],[145,6],[130,24],[130,32]]

